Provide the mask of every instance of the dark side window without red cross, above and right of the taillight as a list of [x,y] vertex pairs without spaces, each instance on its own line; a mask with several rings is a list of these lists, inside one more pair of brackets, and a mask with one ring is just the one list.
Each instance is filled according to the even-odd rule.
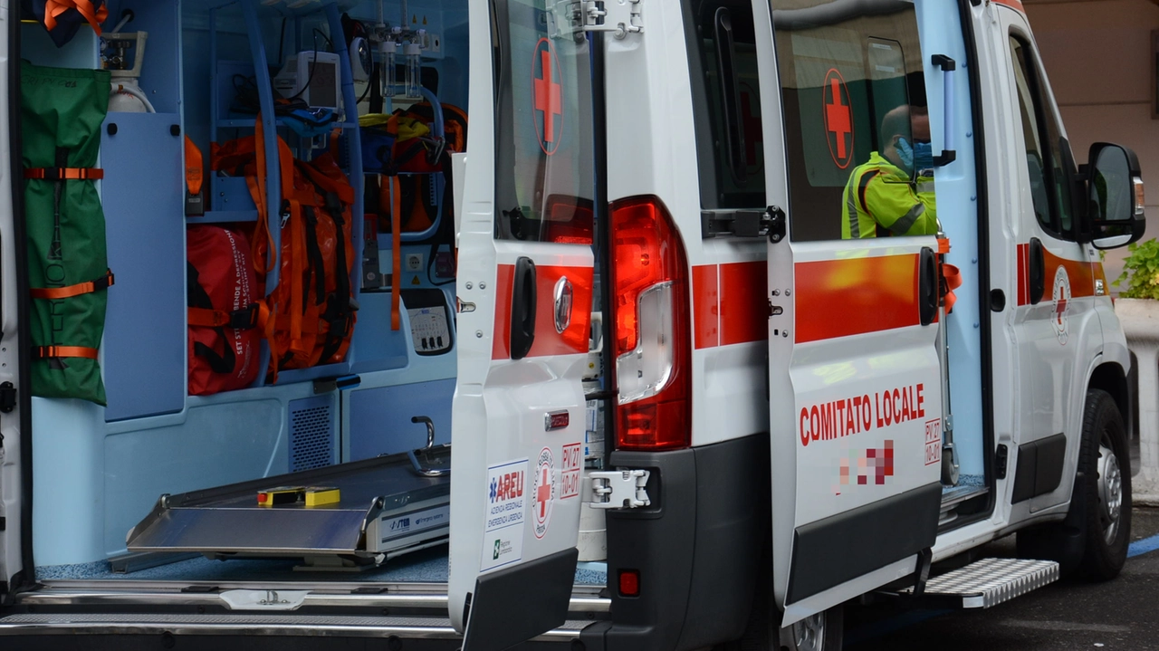
[[685,5],[701,206],[765,205],[752,3],[695,0]]

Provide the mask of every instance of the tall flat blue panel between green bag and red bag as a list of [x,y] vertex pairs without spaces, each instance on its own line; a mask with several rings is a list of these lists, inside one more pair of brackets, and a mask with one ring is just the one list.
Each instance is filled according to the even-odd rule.
[[102,351],[105,418],[180,411],[185,400],[183,154],[176,114],[109,114],[102,182],[109,266],[116,285]]

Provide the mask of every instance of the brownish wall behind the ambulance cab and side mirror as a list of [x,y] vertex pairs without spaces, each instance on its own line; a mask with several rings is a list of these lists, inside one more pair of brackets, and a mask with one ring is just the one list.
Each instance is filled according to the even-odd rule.
[[[1147,183],[1145,239],[1159,236],[1159,119],[1151,119],[1151,30],[1159,0],[1023,0],[1078,162],[1092,142],[1125,145]],[[1107,278],[1127,249],[1107,251]],[[1115,287],[1111,287],[1114,293]]]

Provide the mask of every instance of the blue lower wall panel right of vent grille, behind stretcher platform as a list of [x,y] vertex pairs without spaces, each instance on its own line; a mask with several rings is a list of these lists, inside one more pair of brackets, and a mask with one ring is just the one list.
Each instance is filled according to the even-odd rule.
[[436,445],[451,442],[452,396],[453,378],[351,392],[349,461],[427,445],[427,425],[411,423],[414,416],[431,419]]

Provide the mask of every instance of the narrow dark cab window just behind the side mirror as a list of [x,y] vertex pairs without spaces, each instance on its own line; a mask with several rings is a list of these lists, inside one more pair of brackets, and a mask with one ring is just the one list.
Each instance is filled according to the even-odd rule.
[[1041,100],[1042,85],[1029,50],[1021,38],[1011,37],[1030,197],[1038,224],[1056,235],[1066,236],[1073,227],[1069,181],[1073,170],[1069,169],[1070,159],[1064,156],[1064,153],[1070,154],[1070,144],[1062,137],[1054,112]]

